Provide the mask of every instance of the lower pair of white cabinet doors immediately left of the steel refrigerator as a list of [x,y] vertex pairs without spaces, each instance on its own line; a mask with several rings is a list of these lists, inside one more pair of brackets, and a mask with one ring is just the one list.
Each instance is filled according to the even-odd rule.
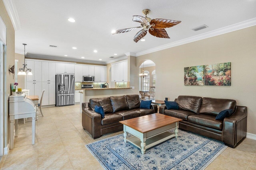
[[44,91],[42,106],[55,104],[55,82],[42,82]]

